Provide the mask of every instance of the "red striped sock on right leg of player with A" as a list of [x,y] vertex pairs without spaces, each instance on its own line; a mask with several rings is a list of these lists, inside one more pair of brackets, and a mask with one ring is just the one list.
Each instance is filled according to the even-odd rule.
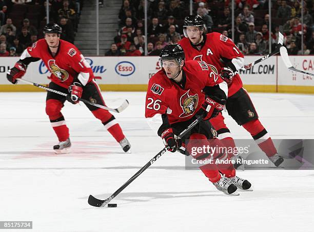
[[242,125],[257,143],[257,145],[265,152],[267,157],[271,157],[277,153],[267,130],[263,127],[260,120],[256,119]]

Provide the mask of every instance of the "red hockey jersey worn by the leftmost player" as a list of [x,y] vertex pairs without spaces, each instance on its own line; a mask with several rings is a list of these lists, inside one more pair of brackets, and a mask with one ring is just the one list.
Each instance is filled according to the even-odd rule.
[[64,88],[68,88],[76,77],[83,85],[94,78],[93,71],[82,53],[64,40],[60,40],[55,56],[52,56],[45,39],[38,40],[22,53],[21,60],[23,62],[30,57],[43,60],[51,72],[51,81]]

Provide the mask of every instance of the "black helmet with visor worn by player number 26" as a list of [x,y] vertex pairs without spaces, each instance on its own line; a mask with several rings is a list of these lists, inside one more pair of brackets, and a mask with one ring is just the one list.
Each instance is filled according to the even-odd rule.
[[163,61],[166,60],[175,60],[178,65],[181,65],[181,62],[185,60],[185,54],[183,48],[179,44],[171,44],[164,47],[159,55],[160,67],[163,67]]

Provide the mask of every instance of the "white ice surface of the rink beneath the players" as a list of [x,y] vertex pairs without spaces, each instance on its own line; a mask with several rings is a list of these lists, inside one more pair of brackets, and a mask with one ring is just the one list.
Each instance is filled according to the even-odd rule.
[[[106,199],[162,148],[144,118],[144,92],[104,92],[132,144],[125,154],[82,105],[66,103],[72,152],[56,156],[45,93],[0,93],[0,221],[33,221],[32,231],[313,231],[313,170],[246,170],[254,186],[222,194],[181,154],[164,154],[111,203]],[[250,94],[274,139],[314,138],[314,96]],[[226,115],[234,138],[250,138]],[[14,231],[14,230],[9,230]],[[22,231],[22,230],[16,230]]]

